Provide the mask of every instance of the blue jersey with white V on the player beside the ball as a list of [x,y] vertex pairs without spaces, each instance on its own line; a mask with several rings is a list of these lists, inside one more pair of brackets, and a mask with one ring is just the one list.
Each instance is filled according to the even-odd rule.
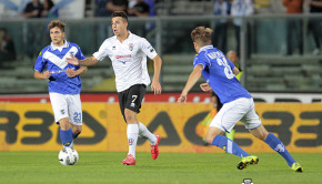
[[81,91],[80,75],[69,78],[66,73],[67,69],[78,70],[79,65],[73,65],[66,62],[66,58],[73,54],[79,60],[85,59],[81,52],[79,45],[76,43],[64,41],[62,47],[54,47],[53,43],[46,47],[39,53],[34,70],[42,72],[46,68],[51,72],[51,76],[48,82],[49,92],[56,92],[60,94],[79,94]]

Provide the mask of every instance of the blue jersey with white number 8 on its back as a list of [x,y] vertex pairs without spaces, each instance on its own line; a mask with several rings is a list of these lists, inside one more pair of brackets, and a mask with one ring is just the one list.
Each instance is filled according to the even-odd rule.
[[220,50],[213,48],[213,45],[200,49],[199,53],[194,57],[193,67],[199,64],[203,67],[203,78],[222,103],[228,103],[240,98],[252,98],[232,72],[234,64]]

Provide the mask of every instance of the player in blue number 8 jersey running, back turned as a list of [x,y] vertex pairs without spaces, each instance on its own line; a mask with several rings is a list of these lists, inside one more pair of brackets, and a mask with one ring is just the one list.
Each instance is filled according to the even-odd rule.
[[235,123],[241,121],[250,133],[264,141],[271,149],[282,155],[294,172],[303,172],[302,166],[293,160],[280,139],[269,133],[262,125],[260,117],[255,113],[251,94],[241,86],[235,78],[239,73],[238,68],[220,50],[212,45],[212,32],[210,28],[204,27],[198,27],[191,32],[193,45],[198,54],[193,60],[193,71],[178,102],[182,103],[187,101],[188,92],[202,74],[207,81],[205,84],[201,85],[202,90],[213,90],[223,103],[222,109],[209,126],[205,136],[205,141],[209,144],[219,146],[227,153],[240,156],[239,170],[246,168],[250,164],[256,164],[259,162],[258,156],[250,155],[233,141],[223,136],[224,132],[230,132]]

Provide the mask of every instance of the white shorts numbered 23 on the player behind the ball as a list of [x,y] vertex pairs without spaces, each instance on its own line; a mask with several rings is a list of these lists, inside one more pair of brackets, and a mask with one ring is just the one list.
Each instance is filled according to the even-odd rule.
[[49,93],[54,121],[58,123],[63,117],[74,125],[82,125],[82,106],[79,94]]

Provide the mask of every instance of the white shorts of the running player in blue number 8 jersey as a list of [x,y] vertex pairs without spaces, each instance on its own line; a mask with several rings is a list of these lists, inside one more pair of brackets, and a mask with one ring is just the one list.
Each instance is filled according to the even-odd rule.
[[209,126],[230,132],[239,121],[249,130],[256,129],[262,124],[255,112],[253,99],[241,98],[223,104]]

